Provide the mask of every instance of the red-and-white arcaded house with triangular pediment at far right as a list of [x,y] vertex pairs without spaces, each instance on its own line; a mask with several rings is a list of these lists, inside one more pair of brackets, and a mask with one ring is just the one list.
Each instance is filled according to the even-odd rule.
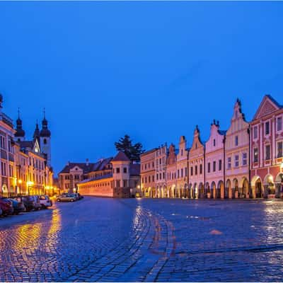
[[282,197],[283,106],[265,96],[250,122],[253,197]]

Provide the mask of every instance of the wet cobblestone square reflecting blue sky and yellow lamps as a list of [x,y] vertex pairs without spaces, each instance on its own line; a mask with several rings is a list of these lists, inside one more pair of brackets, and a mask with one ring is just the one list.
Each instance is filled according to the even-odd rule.
[[86,197],[0,219],[0,282],[282,282],[283,202]]

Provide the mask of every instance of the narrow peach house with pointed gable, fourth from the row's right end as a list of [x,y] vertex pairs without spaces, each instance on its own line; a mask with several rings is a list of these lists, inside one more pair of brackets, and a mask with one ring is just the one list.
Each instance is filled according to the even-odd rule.
[[190,198],[205,198],[207,192],[204,191],[204,144],[200,139],[200,129],[196,126],[192,147],[189,151],[189,187]]

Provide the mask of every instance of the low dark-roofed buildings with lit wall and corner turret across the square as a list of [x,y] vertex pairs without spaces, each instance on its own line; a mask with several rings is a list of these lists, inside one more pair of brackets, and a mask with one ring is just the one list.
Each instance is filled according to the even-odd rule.
[[120,151],[115,157],[101,158],[96,163],[71,163],[59,173],[63,192],[100,197],[134,197],[139,187],[140,165],[132,163]]

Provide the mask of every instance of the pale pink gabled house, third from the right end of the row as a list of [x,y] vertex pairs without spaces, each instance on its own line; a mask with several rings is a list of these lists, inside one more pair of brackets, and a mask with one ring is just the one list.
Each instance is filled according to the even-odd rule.
[[205,189],[209,198],[224,198],[224,144],[226,131],[219,129],[219,122],[212,123],[210,137],[205,143]]

